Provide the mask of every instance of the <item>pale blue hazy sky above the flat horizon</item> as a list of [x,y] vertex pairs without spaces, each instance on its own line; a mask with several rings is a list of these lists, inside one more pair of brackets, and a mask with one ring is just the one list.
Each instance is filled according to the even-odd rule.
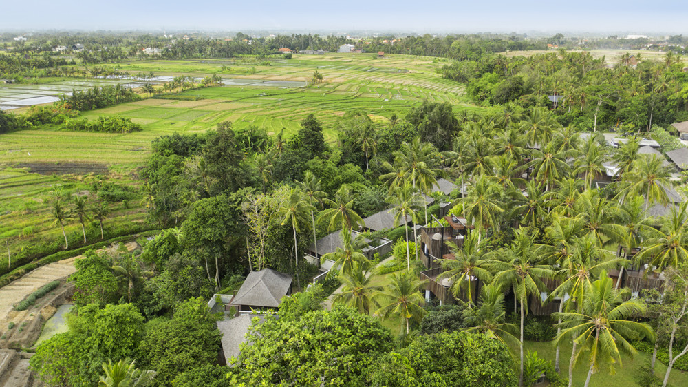
[[688,35],[687,0],[231,1],[5,0],[0,31],[395,30],[669,32]]

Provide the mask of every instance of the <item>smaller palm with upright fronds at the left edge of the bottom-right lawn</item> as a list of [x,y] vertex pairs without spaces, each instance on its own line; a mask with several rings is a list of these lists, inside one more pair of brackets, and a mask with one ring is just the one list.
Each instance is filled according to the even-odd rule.
[[470,326],[464,331],[484,333],[510,348],[515,348],[519,346],[519,341],[515,336],[518,334],[518,328],[515,324],[506,323],[504,320],[506,320],[504,292],[497,286],[489,284],[481,289],[477,307],[464,311],[464,322]]

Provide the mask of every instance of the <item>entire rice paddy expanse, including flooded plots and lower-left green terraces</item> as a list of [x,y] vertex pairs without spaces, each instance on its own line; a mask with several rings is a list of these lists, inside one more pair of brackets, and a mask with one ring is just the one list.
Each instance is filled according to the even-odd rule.
[[[334,141],[338,118],[354,109],[369,114],[378,125],[387,125],[392,113],[404,116],[423,100],[451,103],[455,112],[483,109],[467,103],[464,85],[442,79],[436,72],[436,66],[442,63],[433,63],[426,57],[373,59],[368,54],[328,54],[297,55],[290,61],[270,61],[269,65],[242,61],[136,61],[109,65],[130,74],[154,72],[153,81],[180,75],[202,78],[218,74],[226,83],[182,93],[193,96],[182,98],[195,101],[147,98],[83,114],[91,119],[107,115],[131,118],[142,125],[141,132],[77,133],[63,131],[58,125],[44,125],[0,135],[0,244],[4,246],[8,240],[11,248],[20,249],[45,241],[59,242],[61,231],[50,215],[54,187],[65,187],[70,194],[89,190],[94,177],[85,175],[102,174],[105,169],[118,175],[109,176],[109,180],[138,187],[140,181],[135,169],[146,163],[151,142],[166,134],[204,132],[222,121],[232,121],[235,129],[256,125],[270,134],[283,131],[289,136],[312,113],[323,122],[325,138]],[[315,70],[324,79],[312,85],[310,80]],[[3,85],[7,87],[0,88],[0,98],[29,99],[71,92],[72,88],[135,82],[132,79],[49,81],[40,85]],[[72,176],[42,176],[18,167]],[[106,227],[129,227],[132,223],[140,224],[145,217],[140,198],[129,200],[126,205],[113,205],[111,210]],[[90,229],[94,227],[97,224],[92,224]],[[66,231],[75,236],[80,226],[69,222]],[[0,264],[6,262],[6,255],[0,257]]]

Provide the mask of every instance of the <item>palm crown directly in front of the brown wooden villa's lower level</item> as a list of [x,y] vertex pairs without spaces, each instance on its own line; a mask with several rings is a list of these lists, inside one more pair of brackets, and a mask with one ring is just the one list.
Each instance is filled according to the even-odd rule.
[[[482,243],[486,244],[487,242],[483,240]],[[447,246],[454,254],[454,258],[440,260],[444,271],[438,275],[437,281],[450,278],[451,287],[449,289],[454,297],[460,297],[461,292],[465,291],[469,308],[471,308],[473,305],[473,282],[476,284],[479,284],[480,281],[488,283],[492,279],[489,269],[493,261],[484,258],[484,253],[480,251],[480,245],[477,242],[477,233],[471,232],[466,236],[463,248],[458,248],[452,242],[447,242]]]

